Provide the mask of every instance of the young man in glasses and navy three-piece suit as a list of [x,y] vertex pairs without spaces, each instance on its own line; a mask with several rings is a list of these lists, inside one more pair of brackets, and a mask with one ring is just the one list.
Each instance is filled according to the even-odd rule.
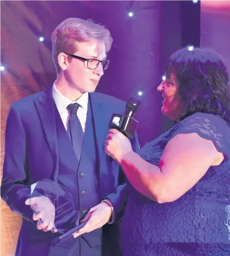
[[[125,103],[94,92],[108,67],[111,44],[104,26],[64,20],[52,33],[56,81],[10,107],[1,196],[12,211],[23,215],[16,256],[100,256],[101,248],[109,256],[118,249],[117,228],[112,226],[122,216],[127,189],[104,143],[110,117],[122,114]],[[136,137],[132,145],[138,150]],[[87,222],[53,249],[51,242],[60,233],[52,223],[39,222],[47,212],[33,214],[29,206],[30,186],[43,178],[63,185],[78,204],[79,223]],[[39,201],[35,203],[39,209]]]

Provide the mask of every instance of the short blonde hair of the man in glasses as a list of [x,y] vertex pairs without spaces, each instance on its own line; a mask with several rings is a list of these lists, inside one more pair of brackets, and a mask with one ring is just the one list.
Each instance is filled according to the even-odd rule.
[[104,42],[106,53],[109,52],[113,38],[110,32],[101,24],[92,20],[69,18],[62,21],[52,33],[52,58],[57,73],[60,72],[58,55],[60,53],[76,51],[74,43],[86,42],[92,39]]

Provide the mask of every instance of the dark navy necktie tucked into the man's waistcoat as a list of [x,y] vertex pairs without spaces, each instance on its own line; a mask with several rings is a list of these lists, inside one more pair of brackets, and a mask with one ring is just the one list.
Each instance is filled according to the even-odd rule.
[[67,133],[70,138],[70,141],[72,142],[74,152],[77,155],[77,159],[79,162],[79,160],[81,158],[84,133],[83,133],[83,130],[81,127],[81,123],[77,117],[78,107],[79,107],[78,103],[70,104],[67,107],[67,109],[69,110],[69,114],[70,114],[69,121],[68,121]]

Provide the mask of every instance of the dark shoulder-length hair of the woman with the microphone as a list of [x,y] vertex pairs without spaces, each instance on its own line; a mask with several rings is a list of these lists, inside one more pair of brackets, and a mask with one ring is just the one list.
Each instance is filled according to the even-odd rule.
[[227,66],[211,49],[184,47],[166,64],[166,77],[174,73],[178,84],[181,121],[195,112],[221,116],[230,124],[230,89]]

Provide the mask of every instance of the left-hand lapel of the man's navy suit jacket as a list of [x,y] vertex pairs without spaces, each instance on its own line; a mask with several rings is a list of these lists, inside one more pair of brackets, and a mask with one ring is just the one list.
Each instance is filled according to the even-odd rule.
[[54,159],[53,179],[58,181],[58,138],[56,134],[54,100],[52,98],[52,86],[43,91],[41,96],[35,101],[39,118],[45,133],[48,146]]

